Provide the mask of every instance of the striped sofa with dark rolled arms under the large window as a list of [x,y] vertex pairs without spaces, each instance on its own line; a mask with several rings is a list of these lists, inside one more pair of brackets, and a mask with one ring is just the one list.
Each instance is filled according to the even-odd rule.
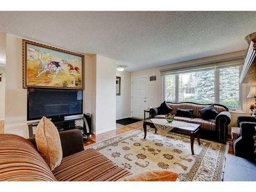
[[[174,119],[177,121],[184,121],[189,123],[201,124],[201,130],[207,131],[208,133],[214,133],[216,139],[225,143],[228,133],[228,124],[231,122],[231,115],[228,112],[228,108],[221,104],[198,104],[193,102],[166,102],[170,108],[173,109],[171,114],[176,115],[176,109],[193,109],[193,118],[175,116]],[[214,108],[220,114],[215,119],[202,119],[202,115],[199,110],[204,109],[206,106],[214,105]],[[158,108],[150,109],[150,118],[165,118],[165,115],[158,114]]]

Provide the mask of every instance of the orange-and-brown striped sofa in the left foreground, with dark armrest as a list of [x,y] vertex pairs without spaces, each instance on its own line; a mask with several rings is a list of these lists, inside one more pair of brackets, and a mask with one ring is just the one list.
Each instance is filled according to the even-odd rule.
[[[35,138],[0,134],[0,181],[175,181],[167,170],[130,173],[98,151],[83,148],[80,130],[59,132],[62,161],[53,170],[37,152]],[[147,179],[147,180],[145,180]]]

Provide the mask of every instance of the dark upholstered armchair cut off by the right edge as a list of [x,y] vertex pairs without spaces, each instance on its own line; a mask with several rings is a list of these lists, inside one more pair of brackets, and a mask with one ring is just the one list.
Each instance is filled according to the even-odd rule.
[[238,126],[241,131],[240,137],[234,141],[234,155],[255,160],[256,119],[252,116],[238,116]]

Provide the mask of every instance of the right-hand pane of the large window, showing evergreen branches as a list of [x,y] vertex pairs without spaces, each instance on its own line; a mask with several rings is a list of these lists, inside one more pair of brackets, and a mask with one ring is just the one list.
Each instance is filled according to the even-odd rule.
[[220,104],[238,109],[239,93],[239,67],[220,69]]

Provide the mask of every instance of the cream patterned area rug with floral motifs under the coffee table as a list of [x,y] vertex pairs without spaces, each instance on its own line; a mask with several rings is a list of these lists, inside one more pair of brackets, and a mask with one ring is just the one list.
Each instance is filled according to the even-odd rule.
[[134,130],[84,148],[94,148],[120,167],[132,173],[167,169],[179,174],[179,181],[221,181],[228,144],[200,139],[191,154],[190,138],[177,133],[155,134],[148,129]]

